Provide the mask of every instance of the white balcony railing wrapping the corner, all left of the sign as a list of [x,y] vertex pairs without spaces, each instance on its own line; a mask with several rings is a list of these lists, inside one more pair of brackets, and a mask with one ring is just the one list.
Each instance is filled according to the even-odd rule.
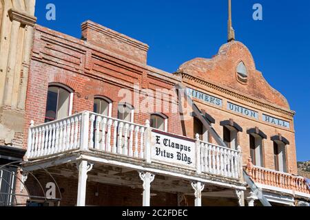
[[35,159],[81,148],[144,158],[146,128],[88,111],[38,126],[32,122],[27,157]]

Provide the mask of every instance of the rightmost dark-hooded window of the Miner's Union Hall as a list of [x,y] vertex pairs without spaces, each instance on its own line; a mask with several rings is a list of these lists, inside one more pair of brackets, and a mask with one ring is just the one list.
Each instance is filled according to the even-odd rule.
[[273,141],[273,161],[274,168],[280,172],[287,173],[287,154],[286,146],[289,141],[280,135],[271,137]]

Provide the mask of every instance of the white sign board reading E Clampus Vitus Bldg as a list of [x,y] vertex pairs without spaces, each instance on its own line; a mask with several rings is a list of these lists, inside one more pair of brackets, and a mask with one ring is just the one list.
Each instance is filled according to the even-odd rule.
[[195,169],[196,143],[187,137],[153,130],[152,161]]

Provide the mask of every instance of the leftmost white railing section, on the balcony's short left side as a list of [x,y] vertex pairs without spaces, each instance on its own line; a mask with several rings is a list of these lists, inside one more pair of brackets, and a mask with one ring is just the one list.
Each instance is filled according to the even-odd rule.
[[82,113],[33,126],[28,132],[28,159],[72,151],[81,145]]

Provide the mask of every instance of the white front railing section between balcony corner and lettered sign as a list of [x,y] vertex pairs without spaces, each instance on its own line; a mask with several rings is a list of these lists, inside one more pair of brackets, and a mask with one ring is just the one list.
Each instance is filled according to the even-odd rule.
[[89,148],[144,158],[146,126],[90,113]]

